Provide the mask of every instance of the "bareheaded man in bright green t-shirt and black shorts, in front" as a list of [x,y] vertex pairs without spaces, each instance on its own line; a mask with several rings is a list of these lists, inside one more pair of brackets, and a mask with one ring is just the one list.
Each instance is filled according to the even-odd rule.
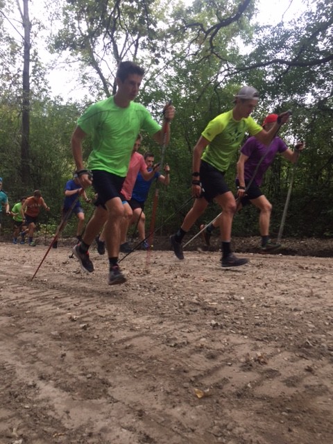
[[[123,218],[120,191],[133,145],[141,131],[146,131],[160,144],[167,143],[170,137],[169,123],[175,112],[170,104],[164,107],[164,124],[161,128],[143,105],[134,102],[143,76],[144,70],[141,67],[133,62],[121,62],[116,74],[116,94],[89,107],[78,119],[71,137],[80,184],[83,188],[93,185],[98,194],[96,210],[87,224],[83,241],[74,247],[73,253],[83,271],[94,271],[88,249],[105,224],[110,285],[126,281],[118,265],[120,223]],[[92,177],[83,164],[82,142],[87,135],[92,137],[92,151],[87,162]]]

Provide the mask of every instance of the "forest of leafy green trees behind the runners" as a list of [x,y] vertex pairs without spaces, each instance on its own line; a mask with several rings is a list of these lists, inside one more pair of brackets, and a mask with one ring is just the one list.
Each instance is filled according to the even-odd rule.
[[[296,167],[278,156],[266,173],[263,189],[274,206],[271,231],[278,232],[294,173],[284,232],[333,237],[333,3],[302,1],[300,14],[275,24],[258,22],[258,7],[256,0],[54,0],[52,8],[42,0],[0,0],[0,176],[10,206],[40,189],[51,207],[40,223],[56,228],[74,171],[70,139],[76,120],[88,105],[114,94],[117,64],[134,60],[146,70],[137,101],[157,121],[170,99],[177,110],[164,158],[171,185],[161,188],[156,223],[163,234],[178,227],[191,205],[183,206],[201,131],[232,108],[239,87],[251,85],[261,98],[253,117],[262,122],[268,113],[292,110],[280,136],[291,148],[299,140],[307,146]],[[44,61],[45,48],[53,60],[65,60],[67,71],[58,79],[64,89],[69,73],[77,74],[75,98],[52,94],[48,75],[56,65]],[[160,146],[146,135],[143,146],[160,158]],[[85,158],[90,149],[87,139]],[[238,156],[226,174],[233,187]],[[93,196],[93,189],[87,192]],[[153,190],[148,219],[152,197]],[[91,207],[85,209],[89,217]],[[205,221],[218,212],[212,205]],[[11,221],[3,225],[10,232]],[[235,217],[233,233],[257,234],[255,208]]]

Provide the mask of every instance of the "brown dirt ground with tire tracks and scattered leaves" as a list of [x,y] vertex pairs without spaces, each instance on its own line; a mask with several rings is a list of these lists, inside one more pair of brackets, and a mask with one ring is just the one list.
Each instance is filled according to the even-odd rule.
[[0,244],[1,444],[332,444],[333,258]]

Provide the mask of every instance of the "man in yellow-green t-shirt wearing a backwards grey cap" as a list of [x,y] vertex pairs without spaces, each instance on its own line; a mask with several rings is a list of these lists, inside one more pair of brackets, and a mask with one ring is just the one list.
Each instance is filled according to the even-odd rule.
[[274,126],[266,131],[250,117],[258,100],[259,94],[255,88],[242,87],[234,97],[234,108],[215,117],[201,133],[194,147],[192,163],[192,194],[196,199],[178,232],[170,237],[171,246],[178,259],[184,259],[183,237],[214,199],[222,208],[219,219],[222,266],[240,266],[248,262],[248,259],[236,257],[230,248],[232,219],[237,204],[223,176],[246,132],[268,145],[289,115],[288,113],[281,114]]

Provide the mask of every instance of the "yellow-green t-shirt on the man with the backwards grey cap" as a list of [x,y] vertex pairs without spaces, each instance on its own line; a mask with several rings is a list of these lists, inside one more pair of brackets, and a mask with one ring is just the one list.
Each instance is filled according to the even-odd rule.
[[254,136],[262,131],[262,126],[256,123],[252,117],[246,117],[239,121],[234,120],[232,110],[219,114],[208,123],[201,133],[210,142],[201,159],[219,171],[227,171],[232,154],[241,145],[246,131]]

